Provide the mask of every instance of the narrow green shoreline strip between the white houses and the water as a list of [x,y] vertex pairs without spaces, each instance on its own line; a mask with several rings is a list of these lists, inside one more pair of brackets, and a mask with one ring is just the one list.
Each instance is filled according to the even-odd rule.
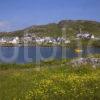
[[[100,47],[100,41],[99,40],[80,40],[80,46],[81,47]],[[69,47],[69,48],[75,48],[78,46],[79,41],[78,40],[71,40],[70,43],[65,44],[65,43],[60,43],[60,44],[49,44],[49,43],[18,43],[18,44],[11,44],[11,43],[5,43],[5,44],[0,44],[0,47],[34,47],[34,46],[40,46],[40,47]]]

